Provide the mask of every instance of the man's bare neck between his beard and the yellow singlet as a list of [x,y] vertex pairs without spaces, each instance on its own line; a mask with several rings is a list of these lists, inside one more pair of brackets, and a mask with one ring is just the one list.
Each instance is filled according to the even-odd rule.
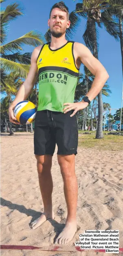
[[64,44],[67,43],[67,40],[65,38],[65,35],[62,35],[60,38],[55,38],[54,36],[51,35],[51,49],[55,50],[63,46]]

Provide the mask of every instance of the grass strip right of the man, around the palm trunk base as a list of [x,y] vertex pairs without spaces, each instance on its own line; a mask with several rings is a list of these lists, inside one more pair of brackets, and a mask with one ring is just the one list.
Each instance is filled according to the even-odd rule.
[[123,150],[123,136],[104,135],[103,139],[95,139],[95,134],[79,135],[78,146],[97,150],[121,151]]

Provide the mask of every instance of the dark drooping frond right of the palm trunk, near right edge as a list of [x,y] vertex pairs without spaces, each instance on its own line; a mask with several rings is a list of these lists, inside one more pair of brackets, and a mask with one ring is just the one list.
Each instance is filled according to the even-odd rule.
[[103,22],[106,31],[112,35],[116,41],[119,41],[119,24],[115,22],[114,18],[109,15],[107,11],[103,11],[103,13],[101,13],[101,22]]

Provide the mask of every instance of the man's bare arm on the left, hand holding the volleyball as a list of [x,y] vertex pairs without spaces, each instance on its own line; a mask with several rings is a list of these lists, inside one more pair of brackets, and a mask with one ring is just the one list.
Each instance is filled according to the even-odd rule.
[[26,100],[28,98],[28,96],[30,95],[30,93],[33,90],[33,87],[37,81],[37,78],[38,78],[37,57],[38,57],[41,47],[42,46],[38,46],[34,49],[32,56],[31,56],[31,67],[30,67],[29,73],[28,73],[24,83],[18,90],[18,93],[17,93],[14,101],[11,103],[11,105],[9,107],[9,120],[11,123],[19,124],[16,121],[16,117],[14,117],[13,110],[14,110],[16,104],[18,104],[19,102]]

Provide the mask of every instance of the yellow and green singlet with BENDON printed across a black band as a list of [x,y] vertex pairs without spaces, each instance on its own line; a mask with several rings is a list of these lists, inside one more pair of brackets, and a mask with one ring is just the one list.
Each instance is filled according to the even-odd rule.
[[79,69],[73,55],[74,42],[52,50],[44,44],[37,57],[39,73],[39,110],[63,112],[64,103],[74,102]]

